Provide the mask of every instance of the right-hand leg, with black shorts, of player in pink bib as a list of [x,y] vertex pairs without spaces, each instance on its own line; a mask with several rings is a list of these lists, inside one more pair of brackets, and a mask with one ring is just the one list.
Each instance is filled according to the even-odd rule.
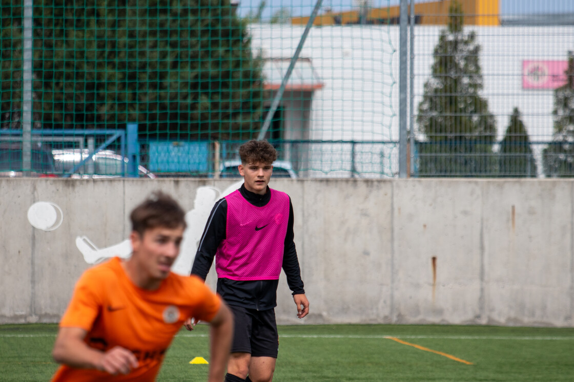
[[274,309],[254,313],[252,325],[248,378],[252,382],[271,382],[279,350]]

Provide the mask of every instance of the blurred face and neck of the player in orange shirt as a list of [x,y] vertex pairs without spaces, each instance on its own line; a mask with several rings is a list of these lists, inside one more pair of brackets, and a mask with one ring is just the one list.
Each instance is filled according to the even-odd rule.
[[129,262],[135,271],[136,284],[144,289],[155,289],[169,275],[180,252],[184,227],[156,227],[143,235],[131,232],[133,255]]

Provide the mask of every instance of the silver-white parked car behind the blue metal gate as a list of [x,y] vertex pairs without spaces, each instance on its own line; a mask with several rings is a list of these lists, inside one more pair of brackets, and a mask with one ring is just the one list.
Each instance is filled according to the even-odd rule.
[[[55,162],[56,173],[60,176],[69,174],[75,166],[79,165],[90,155],[87,149],[54,149],[52,155]],[[92,155],[79,169],[76,169],[71,178],[119,178],[127,176],[127,163],[129,159],[122,157],[112,150],[101,150]],[[142,178],[156,178],[144,166],[138,166],[138,175]]]

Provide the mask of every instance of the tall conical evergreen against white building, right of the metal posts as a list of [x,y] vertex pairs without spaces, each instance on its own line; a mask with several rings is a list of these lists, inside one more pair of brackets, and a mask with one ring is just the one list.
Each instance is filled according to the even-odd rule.
[[475,40],[474,32],[464,33],[462,7],[453,1],[418,105],[417,123],[426,137],[418,145],[420,176],[490,176],[497,167],[496,120],[479,95],[483,83]]

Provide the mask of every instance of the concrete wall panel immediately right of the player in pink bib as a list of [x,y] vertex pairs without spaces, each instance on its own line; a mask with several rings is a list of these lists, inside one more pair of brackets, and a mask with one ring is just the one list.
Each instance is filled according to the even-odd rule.
[[309,321],[390,321],[391,182],[304,183]]

